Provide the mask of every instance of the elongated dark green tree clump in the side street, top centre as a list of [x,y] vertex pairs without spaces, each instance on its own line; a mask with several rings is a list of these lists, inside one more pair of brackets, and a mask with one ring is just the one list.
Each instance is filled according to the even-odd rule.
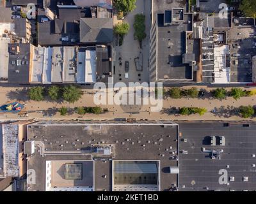
[[135,40],[138,40],[140,43],[140,47],[141,47],[141,43],[142,40],[144,38],[147,37],[147,34],[145,33],[145,15],[143,14],[136,14],[134,17],[134,38]]

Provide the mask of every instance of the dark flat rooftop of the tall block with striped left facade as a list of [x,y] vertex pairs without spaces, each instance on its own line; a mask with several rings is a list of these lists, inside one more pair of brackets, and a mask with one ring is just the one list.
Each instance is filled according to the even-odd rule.
[[[173,12],[179,11],[180,17],[173,18]],[[182,11],[182,12],[181,12]],[[157,13],[157,78],[158,80],[192,80],[193,68],[191,59],[182,61],[187,54],[187,33],[193,31],[193,14],[183,13],[184,10],[166,10]],[[166,16],[170,16],[170,19]],[[183,22],[186,22],[184,24]],[[193,52],[191,52],[193,54]]]

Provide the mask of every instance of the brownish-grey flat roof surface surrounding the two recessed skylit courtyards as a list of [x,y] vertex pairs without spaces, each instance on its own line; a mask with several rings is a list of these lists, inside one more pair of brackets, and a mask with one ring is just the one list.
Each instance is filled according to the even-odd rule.
[[[117,124],[93,122],[38,122],[28,126],[28,140],[43,141],[45,156],[39,152],[30,157],[28,169],[33,168],[37,175],[44,175],[44,161],[60,160],[67,157],[79,160],[95,161],[95,190],[111,189],[109,174],[111,160],[156,160],[160,163],[161,191],[177,184],[177,175],[167,173],[168,166],[177,166],[176,160],[170,160],[170,152],[177,150],[177,126],[170,123],[156,124]],[[32,128],[33,127],[33,128]],[[35,137],[36,136],[36,137]],[[112,145],[115,150],[114,157],[93,156],[91,145]],[[170,148],[172,147],[172,149]],[[37,147],[38,149],[38,147]],[[63,149],[63,150],[61,150]],[[79,150],[77,150],[79,149]],[[51,152],[47,154],[47,151]],[[66,152],[65,155],[54,155],[53,152]],[[84,151],[83,154],[68,154],[67,151]],[[125,154],[124,154],[125,153]],[[58,159],[57,159],[58,158]],[[107,179],[102,175],[107,175]],[[31,186],[29,191],[44,191],[44,178],[36,177],[36,186]]]

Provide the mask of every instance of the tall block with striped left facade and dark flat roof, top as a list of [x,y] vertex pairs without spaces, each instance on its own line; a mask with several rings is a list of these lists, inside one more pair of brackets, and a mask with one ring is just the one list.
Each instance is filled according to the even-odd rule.
[[199,45],[191,40],[193,13],[152,3],[150,82],[193,81]]

